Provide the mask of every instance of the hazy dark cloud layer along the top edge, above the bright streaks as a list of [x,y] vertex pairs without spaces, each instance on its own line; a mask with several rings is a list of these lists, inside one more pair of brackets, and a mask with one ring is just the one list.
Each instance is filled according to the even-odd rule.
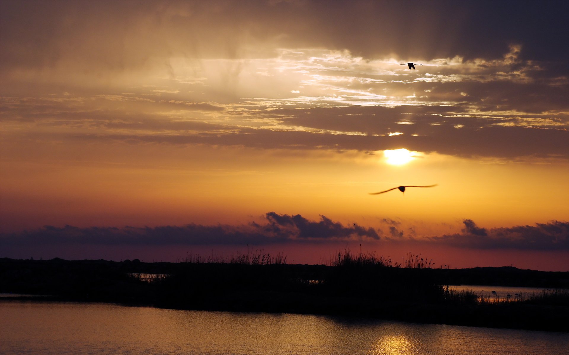
[[[568,6],[565,1],[3,1],[0,62],[49,65],[73,50],[77,57],[124,69],[164,53],[238,57],[257,43],[269,44],[258,55],[323,45],[365,57],[496,58],[519,43],[525,59],[554,60],[567,68],[562,63],[569,49],[559,39],[569,37]],[[22,57],[31,48],[35,55]]]

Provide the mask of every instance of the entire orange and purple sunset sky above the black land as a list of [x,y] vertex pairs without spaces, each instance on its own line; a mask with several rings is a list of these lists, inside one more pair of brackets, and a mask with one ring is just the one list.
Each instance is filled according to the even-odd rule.
[[568,10],[2,1],[0,257],[569,271]]

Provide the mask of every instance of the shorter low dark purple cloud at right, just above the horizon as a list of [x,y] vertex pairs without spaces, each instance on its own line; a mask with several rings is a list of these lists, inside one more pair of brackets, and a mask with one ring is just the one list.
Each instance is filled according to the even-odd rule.
[[461,233],[430,237],[434,243],[469,249],[569,250],[569,222],[480,228],[470,219]]

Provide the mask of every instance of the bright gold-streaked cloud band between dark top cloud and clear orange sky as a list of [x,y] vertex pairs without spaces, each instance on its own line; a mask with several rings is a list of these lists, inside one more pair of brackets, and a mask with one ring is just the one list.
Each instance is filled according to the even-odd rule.
[[[167,89],[154,85],[116,88],[118,93],[130,94],[101,94],[97,87],[89,87],[85,90],[92,92],[84,94],[10,96],[0,98],[0,120],[20,125],[19,132],[36,137],[38,131],[56,127],[49,131],[57,139],[97,137],[130,144],[364,152],[407,148],[463,157],[535,154],[567,158],[565,89],[569,83],[551,85],[559,73],[543,74],[547,70],[522,61],[523,48],[516,48],[494,60],[433,60],[420,73],[400,69],[393,60],[364,60],[346,51],[282,50],[279,60],[249,64],[255,72],[256,65],[267,66],[274,72],[271,81],[257,85],[255,78],[244,76],[234,93],[216,77],[215,68],[222,68],[219,63],[224,60],[209,60],[206,66],[217,63],[221,67],[206,70],[210,77],[205,81],[211,86],[190,98],[188,87],[183,87],[194,84],[176,80],[163,82]],[[285,57],[294,61],[283,62]],[[193,69],[202,78],[205,74],[198,67]],[[283,72],[278,74],[279,70]],[[283,89],[266,91],[280,87],[281,82],[286,84]],[[288,89],[299,84],[303,97],[290,97]],[[175,89],[176,85],[181,86]],[[156,90],[163,95],[157,97]],[[239,97],[251,91],[268,97]],[[394,132],[402,134],[389,137]]]

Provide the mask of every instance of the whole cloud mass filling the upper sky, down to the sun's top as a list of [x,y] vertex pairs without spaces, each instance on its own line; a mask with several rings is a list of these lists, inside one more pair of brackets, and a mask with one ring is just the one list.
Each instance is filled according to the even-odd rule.
[[34,139],[569,158],[565,2],[0,6],[0,120]]

